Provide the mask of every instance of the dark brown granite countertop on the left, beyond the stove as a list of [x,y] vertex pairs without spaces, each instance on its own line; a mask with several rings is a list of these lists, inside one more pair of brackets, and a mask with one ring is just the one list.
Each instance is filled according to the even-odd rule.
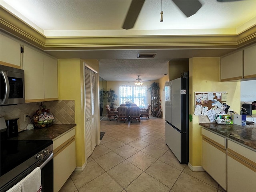
[[18,137],[12,139],[16,140],[53,140],[64,132],[72,129],[76,124],[53,124],[48,128],[35,128],[32,130],[24,130],[19,132]]

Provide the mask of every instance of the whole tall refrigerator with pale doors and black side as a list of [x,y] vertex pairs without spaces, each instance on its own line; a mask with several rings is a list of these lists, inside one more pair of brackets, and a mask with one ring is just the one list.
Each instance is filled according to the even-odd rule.
[[180,163],[188,164],[188,77],[165,84],[165,142]]

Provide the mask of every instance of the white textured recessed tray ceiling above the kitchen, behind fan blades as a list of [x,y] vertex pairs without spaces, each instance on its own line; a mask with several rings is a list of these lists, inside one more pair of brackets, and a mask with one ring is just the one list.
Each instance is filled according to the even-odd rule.
[[202,8],[187,18],[172,0],[163,0],[164,22],[160,22],[161,1],[146,0],[134,28],[124,30],[131,0],[1,0],[4,7],[46,36],[193,34],[198,33],[193,29],[236,29],[256,16],[255,0],[200,2]]

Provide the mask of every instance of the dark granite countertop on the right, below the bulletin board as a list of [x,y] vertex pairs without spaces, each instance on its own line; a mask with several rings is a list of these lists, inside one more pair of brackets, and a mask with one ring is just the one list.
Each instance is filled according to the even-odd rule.
[[216,123],[200,123],[199,125],[256,150],[255,123],[246,126]]

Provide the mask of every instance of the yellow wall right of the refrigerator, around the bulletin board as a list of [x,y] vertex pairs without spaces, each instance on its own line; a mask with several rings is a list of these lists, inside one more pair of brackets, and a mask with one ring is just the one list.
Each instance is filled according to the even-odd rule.
[[[220,58],[189,59],[189,108],[193,114],[195,92],[227,92],[227,104],[240,111],[240,82],[220,82]],[[198,116],[189,123],[189,162],[201,166],[202,137]]]

